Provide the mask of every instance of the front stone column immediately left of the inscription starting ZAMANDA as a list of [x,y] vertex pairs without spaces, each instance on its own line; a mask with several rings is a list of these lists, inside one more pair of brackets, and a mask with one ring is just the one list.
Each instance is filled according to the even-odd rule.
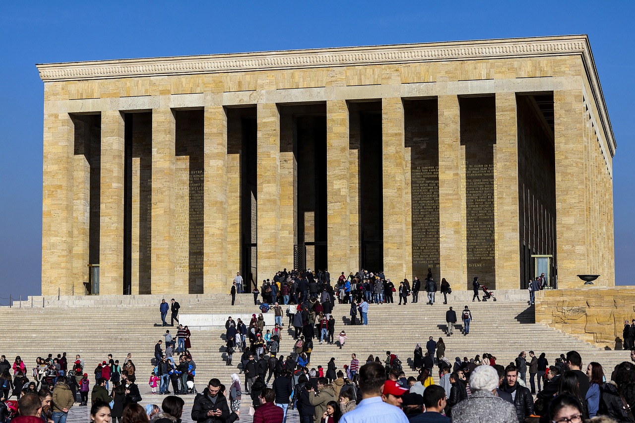
[[[382,98],[384,154],[384,273],[406,277],[406,210],[404,111],[401,98]],[[410,257],[410,253],[408,253]]]

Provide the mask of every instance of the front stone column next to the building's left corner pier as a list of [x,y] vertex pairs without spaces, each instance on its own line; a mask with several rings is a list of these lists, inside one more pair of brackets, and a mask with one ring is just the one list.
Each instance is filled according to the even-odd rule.
[[123,293],[124,119],[102,112],[99,293]]

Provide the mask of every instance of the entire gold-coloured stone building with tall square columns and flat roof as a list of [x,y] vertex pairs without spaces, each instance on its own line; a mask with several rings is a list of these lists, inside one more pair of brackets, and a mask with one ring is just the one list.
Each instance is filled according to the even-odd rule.
[[[43,294],[58,287],[81,292],[87,265],[95,260],[101,293],[121,293],[126,277],[131,293],[227,292],[244,255],[257,268],[256,281],[292,267],[300,232],[305,241],[326,241],[331,278],[356,271],[364,257],[362,203],[368,187],[358,168],[367,124],[360,120],[367,112],[377,112],[381,124],[383,207],[375,220],[383,233],[383,261],[377,265],[383,269],[368,262],[366,267],[384,270],[393,280],[411,279],[413,272],[424,278],[427,267],[434,267],[438,279],[465,289],[472,276],[485,272],[479,260],[488,260],[486,283],[519,288],[523,243],[529,239],[522,235],[540,232],[540,241],[531,243],[542,246],[530,245],[528,254],[553,249],[560,287],[577,286],[580,273],[601,274],[599,285],[615,283],[615,141],[584,36],[46,64],[39,70]],[[525,166],[519,138],[531,135],[521,128],[519,113],[528,112],[519,96],[544,93],[552,96],[552,122],[542,124],[547,135],[552,131],[554,166],[547,182],[555,202],[553,210],[538,205],[523,220],[526,210],[535,209],[525,200],[539,188],[519,187]],[[298,228],[302,169],[289,140],[296,136],[294,114],[302,107],[311,113],[317,107],[326,119],[323,240],[315,213],[305,215]],[[474,110],[471,117],[467,110]],[[179,135],[182,111],[201,112],[200,133]],[[549,117],[539,106],[535,111],[535,119]],[[490,126],[478,126],[478,112],[486,113]],[[96,147],[93,156],[79,156],[77,134],[90,116],[100,116],[90,121]],[[255,119],[250,208],[241,198],[250,183],[243,180],[244,133],[250,128],[232,116]],[[133,129],[126,135],[128,124]],[[473,151],[468,139],[474,133],[481,134],[488,156]],[[126,137],[133,140],[127,153]],[[426,161],[426,149],[413,155],[420,142],[434,144],[436,163]],[[192,148],[179,151],[183,143]],[[124,175],[128,158],[130,180]],[[535,166],[541,159],[535,158]],[[93,183],[95,172],[99,182]],[[428,178],[423,185],[422,175]],[[490,198],[485,217],[478,213],[481,199],[472,195],[475,186]],[[413,199],[428,198],[418,196],[421,187],[438,191],[438,217],[435,211],[427,220],[413,219],[412,210],[422,210]],[[131,198],[125,212],[124,196]],[[91,201],[100,209],[97,221]],[[436,200],[434,205],[436,210]],[[552,217],[553,224],[541,215]],[[250,234],[241,229],[246,218],[253,218]],[[478,219],[486,219],[477,241],[487,244],[483,248],[474,245],[471,222],[480,224]],[[523,221],[535,227],[521,227]],[[438,226],[432,249],[418,245],[420,234],[430,233],[422,232],[424,224],[434,231]],[[250,242],[254,246],[245,250]],[[424,251],[422,258],[413,259],[414,250]]]

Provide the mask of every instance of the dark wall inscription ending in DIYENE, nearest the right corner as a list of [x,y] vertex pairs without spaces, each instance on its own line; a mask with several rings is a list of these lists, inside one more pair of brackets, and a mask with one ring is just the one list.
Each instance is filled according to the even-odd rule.
[[[467,268],[471,276],[494,288],[494,165],[468,164],[465,168]],[[488,280],[490,279],[490,280]]]

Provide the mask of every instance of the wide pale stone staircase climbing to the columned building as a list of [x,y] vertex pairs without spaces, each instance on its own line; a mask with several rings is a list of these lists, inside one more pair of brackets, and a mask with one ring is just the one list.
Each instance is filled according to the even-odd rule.
[[[471,297],[471,292],[455,291],[448,297],[448,305],[442,304],[442,295],[437,296],[434,305],[427,305],[425,293],[422,293],[417,304],[370,304],[368,326],[350,326],[350,306],[336,304],[333,311],[337,321],[336,339],[342,329],[349,339],[342,349],[337,342],[328,345],[314,340],[311,366],[326,368],[329,359],[334,357],[338,368],[342,368],[350,363],[352,352],[364,363],[369,354],[378,355],[383,360],[385,352],[391,351],[403,361],[406,375],[414,375],[411,368],[413,349],[420,342],[425,351],[425,342],[430,336],[434,340],[443,337],[445,356],[450,362],[457,356],[474,358],[476,354],[482,356],[484,352],[489,352],[497,357],[497,363],[506,365],[514,361],[519,352],[533,350],[537,355],[545,352],[549,363],[553,364],[559,354],[575,349],[582,355],[584,363],[598,361],[610,374],[613,366],[629,359],[626,351],[605,351],[553,328],[533,323],[533,307],[527,305],[526,292],[497,292],[497,302],[472,302]],[[59,299],[56,296],[33,297],[22,304],[14,302],[11,308],[0,307],[0,319],[4,322],[0,327],[0,337],[4,340],[0,354],[4,354],[11,363],[15,356],[20,355],[29,373],[38,356],[67,352],[69,361],[72,361],[75,354],[81,354],[86,372],[93,379],[93,370],[97,363],[106,359],[107,354],[112,354],[123,365],[126,354],[131,353],[142,394],[144,391],[149,393],[147,380],[154,367],[154,344],[163,339],[166,329],[161,327],[161,298],[161,295]],[[177,297],[177,300],[181,305],[180,314],[235,316],[237,313],[259,312],[253,305],[251,294],[237,295],[234,306],[231,305],[231,297],[223,294],[188,295]],[[461,333],[460,325],[456,326],[453,336],[445,335],[445,312],[450,305],[457,311],[457,316],[460,316],[464,305],[469,305],[474,317],[469,335]],[[283,323],[281,352],[290,354],[294,344],[293,330],[288,328],[286,316],[283,316]],[[168,329],[176,332],[176,328]],[[238,372],[238,352],[234,354],[234,366],[225,365],[224,333],[225,328],[219,326],[192,332],[190,351],[197,364],[199,391],[211,377],[218,377],[229,386],[231,373]]]

